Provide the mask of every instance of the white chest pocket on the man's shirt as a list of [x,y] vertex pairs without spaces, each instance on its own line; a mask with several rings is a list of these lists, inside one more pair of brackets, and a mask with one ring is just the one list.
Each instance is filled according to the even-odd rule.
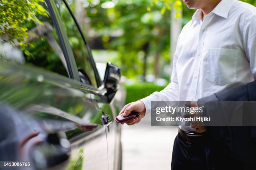
[[217,85],[236,81],[238,50],[208,49],[206,80]]

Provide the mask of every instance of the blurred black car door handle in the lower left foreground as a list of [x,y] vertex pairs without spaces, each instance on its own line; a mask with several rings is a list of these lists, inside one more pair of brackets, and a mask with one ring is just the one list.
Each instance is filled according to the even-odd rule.
[[31,148],[31,160],[35,169],[43,170],[68,162],[70,151],[65,133],[53,133],[47,136],[46,141]]

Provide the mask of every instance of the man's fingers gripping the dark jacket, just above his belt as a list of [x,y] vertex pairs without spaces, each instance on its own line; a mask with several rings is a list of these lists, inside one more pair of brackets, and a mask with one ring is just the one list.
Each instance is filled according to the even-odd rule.
[[[185,104],[187,107],[198,107],[197,103],[189,103]],[[184,117],[200,117],[200,112],[195,112],[194,114],[188,113],[185,114]],[[203,133],[206,131],[205,126],[202,122],[199,121],[192,121],[190,122],[191,128],[195,129],[197,133]]]

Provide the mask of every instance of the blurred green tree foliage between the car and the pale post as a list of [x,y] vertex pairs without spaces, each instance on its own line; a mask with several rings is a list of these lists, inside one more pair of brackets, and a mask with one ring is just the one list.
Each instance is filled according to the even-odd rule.
[[[104,6],[107,0],[100,0],[97,5],[93,2],[85,8],[90,23],[84,30],[90,26],[102,37],[106,49],[118,51],[113,62],[121,66],[123,75],[142,75],[145,57],[146,73],[154,73],[157,52],[161,55],[159,63],[169,64],[170,11],[161,14],[163,1],[119,0],[112,7]],[[87,37],[93,40],[90,35]]]

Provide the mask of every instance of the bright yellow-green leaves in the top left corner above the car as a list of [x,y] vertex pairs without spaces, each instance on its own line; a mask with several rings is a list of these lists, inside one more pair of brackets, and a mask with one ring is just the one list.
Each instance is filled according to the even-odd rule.
[[46,15],[40,2],[43,0],[0,0],[0,36],[7,34],[11,43],[16,39],[24,45],[22,42],[28,37],[24,23],[28,20],[40,23],[36,15]]

